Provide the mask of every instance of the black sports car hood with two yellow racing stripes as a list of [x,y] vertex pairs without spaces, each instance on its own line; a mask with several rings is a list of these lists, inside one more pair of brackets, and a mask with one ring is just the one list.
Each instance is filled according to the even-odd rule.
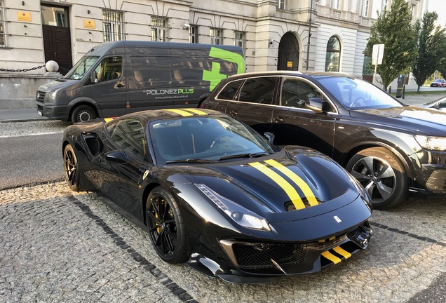
[[[270,163],[276,163],[275,167]],[[259,165],[266,166],[272,176],[253,167]],[[281,166],[286,167],[285,171],[290,175],[278,168]],[[272,221],[275,220],[273,214],[293,213],[290,218],[296,220],[296,213],[302,213],[301,218],[311,217],[321,211],[346,206],[358,198],[358,189],[343,168],[327,156],[302,147],[283,149],[262,158],[205,166],[177,166],[176,171],[172,174],[170,170],[167,180],[173,187],[185,183],[205,184],[220,196]],[[325,204],[331,205],[324,207]],[[293,211],[295,209],[299,211]],[[283,216],[278,220],[283,221]]]

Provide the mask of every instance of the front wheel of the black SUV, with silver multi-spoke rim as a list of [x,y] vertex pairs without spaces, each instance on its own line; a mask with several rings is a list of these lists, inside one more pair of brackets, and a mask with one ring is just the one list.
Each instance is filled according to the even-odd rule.
[[392,208],[407,198],[409,185],[403,163],[384,147],[358,152],[346,169],[363,184],[375,209]]

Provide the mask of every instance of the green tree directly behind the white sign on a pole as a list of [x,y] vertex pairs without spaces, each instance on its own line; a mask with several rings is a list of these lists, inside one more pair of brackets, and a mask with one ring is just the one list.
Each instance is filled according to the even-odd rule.
[[382,64],[377,73],[384,90],[399,74],[410,72],[417,58],[417,36],[412,25],[412,11],[405,0],[394,0],[391,10],[378,12],[377,21],[370,27],[365,53],[372,56],[373,45],[384,44]]

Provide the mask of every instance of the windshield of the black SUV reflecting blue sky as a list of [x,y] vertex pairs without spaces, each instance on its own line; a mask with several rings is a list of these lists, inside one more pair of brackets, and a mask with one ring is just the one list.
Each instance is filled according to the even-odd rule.
[[364,80],[340,76],[321,76],[317,79],[322,86],[336,97],[339,105],[348,109],[379,109],[403,106],[384,90]]

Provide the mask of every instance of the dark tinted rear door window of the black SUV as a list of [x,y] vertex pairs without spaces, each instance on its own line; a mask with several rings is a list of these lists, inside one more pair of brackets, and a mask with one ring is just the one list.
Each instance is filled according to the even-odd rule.
[[266,105],[274,104],[273,95],[277,79],[278,77],[247,79],[245,83],[243,83],[238,100]]

